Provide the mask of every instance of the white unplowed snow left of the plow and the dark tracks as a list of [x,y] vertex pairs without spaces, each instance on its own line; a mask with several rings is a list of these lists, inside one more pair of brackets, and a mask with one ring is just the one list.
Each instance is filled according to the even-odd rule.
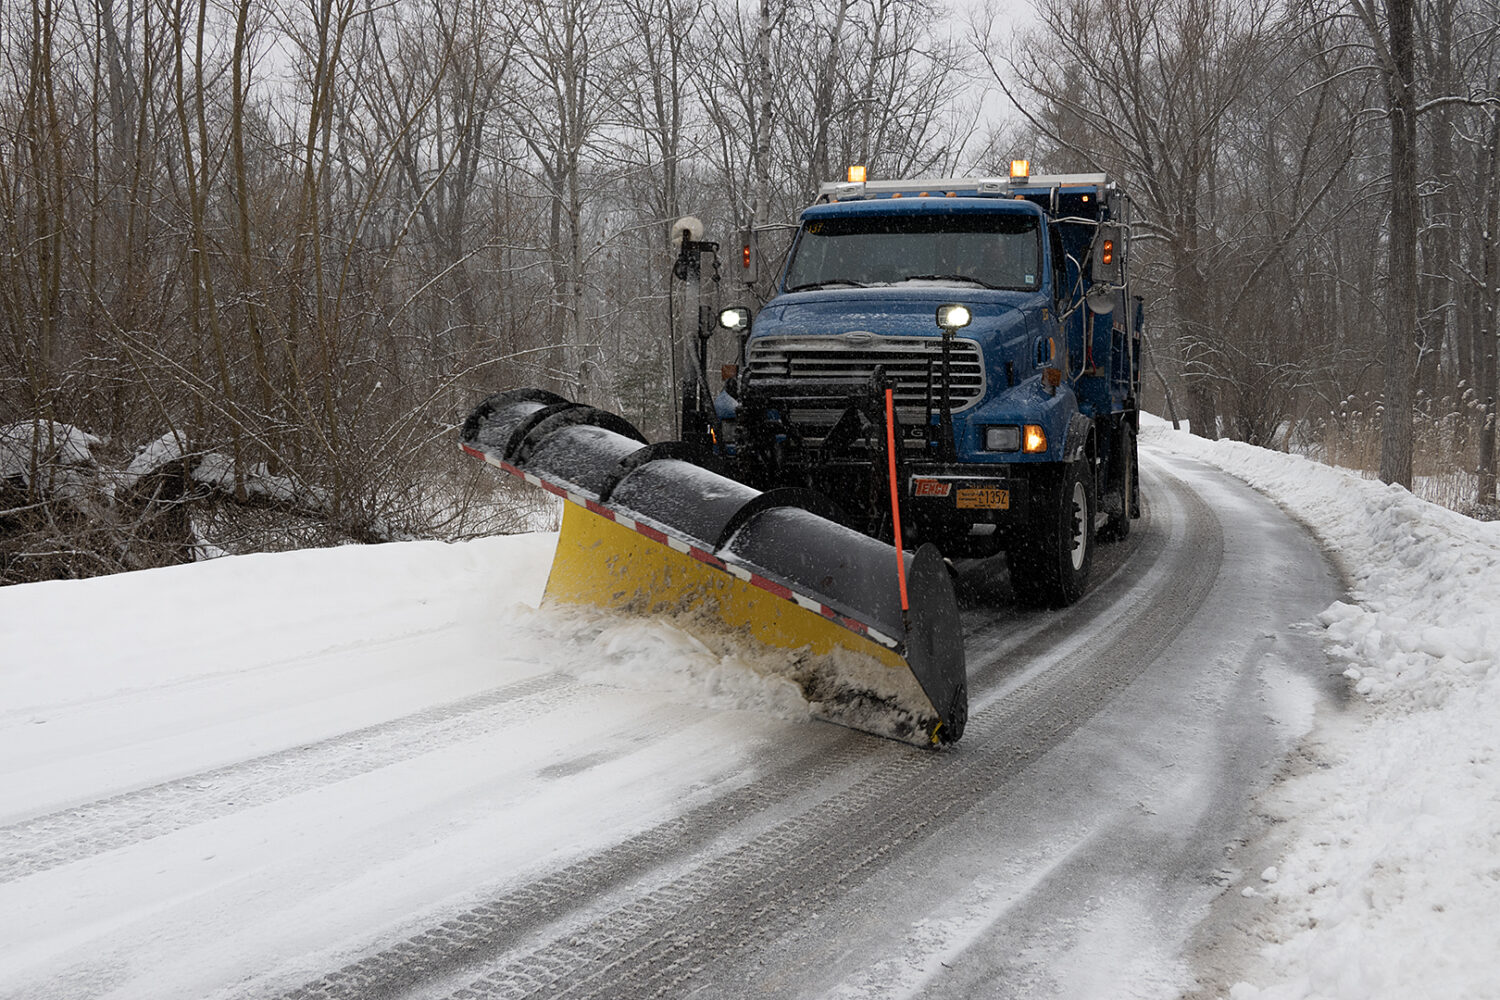
[[702,804],[806,724],[788,681],[669,625],[537,610],[555,543],[0,589],[0,997],[273,996]]

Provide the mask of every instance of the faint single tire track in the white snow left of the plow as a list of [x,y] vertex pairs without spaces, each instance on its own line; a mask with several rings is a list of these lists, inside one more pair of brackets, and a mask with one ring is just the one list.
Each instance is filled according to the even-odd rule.
[[550,673],[386,723],[0,828],[0,885],[354,778],[494,732],[570,697]]

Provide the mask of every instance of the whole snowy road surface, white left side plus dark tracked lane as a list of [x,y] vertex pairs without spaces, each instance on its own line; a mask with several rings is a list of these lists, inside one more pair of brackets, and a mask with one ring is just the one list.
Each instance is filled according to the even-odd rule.
[[0,996],[1176,997],[1342,589],[1239,481],[1142,478],[1076,607],[968,568],[946,753],[532,609],[548,537],[0,592]]

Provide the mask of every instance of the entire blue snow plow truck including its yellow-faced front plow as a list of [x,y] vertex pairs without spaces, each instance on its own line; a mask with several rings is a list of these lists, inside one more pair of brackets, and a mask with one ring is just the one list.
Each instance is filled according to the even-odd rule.
[[[951,744],[968,718],[951,558],[1005,553],[1018,600],[1071,604],[1095,540],[1140,514],[1128,208],[1102,174],[1020,165],[825,184],[774,295],[717,324],[698,292],[718,244],[684,219],[680,439],[514,388],[459,445],[564,501],[546,601],[772,648],[814,714]],[[740,249],[753,267],[753,234]],[[718,391],[716,337],[735,358]]]

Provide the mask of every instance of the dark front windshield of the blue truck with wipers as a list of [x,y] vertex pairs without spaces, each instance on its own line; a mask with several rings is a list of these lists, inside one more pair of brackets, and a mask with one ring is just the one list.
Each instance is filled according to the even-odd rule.
[[1041,277],[1036,219],[999,211],[849,216],[802,225],[786,289],[963,280],[1034,291]]

